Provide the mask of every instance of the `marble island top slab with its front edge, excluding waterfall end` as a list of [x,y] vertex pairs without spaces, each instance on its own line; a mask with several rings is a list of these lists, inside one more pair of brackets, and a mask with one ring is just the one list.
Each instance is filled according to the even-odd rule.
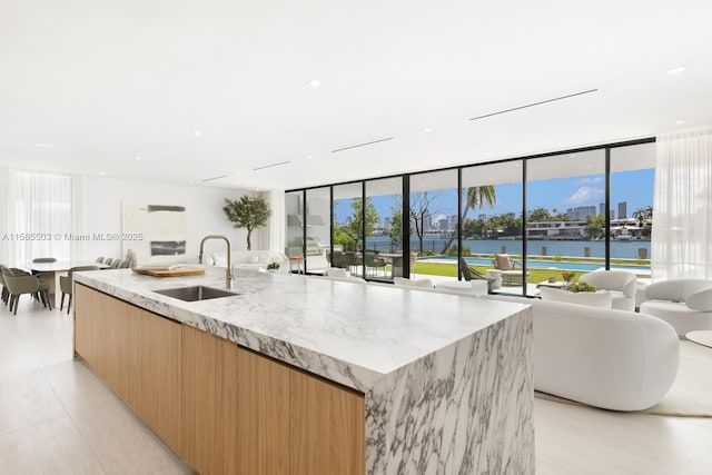
[[527,308],[469,296],[244,270],[234,297],[182,301],[152,290],[225,288],[225,269],[157,278],[130,269],[75,279],[357,390]]

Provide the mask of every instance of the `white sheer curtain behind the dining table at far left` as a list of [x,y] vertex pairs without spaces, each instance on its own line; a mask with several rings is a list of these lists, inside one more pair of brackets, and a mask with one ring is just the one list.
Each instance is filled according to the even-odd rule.
[[72,187],[67,175],[7,170],[2,232],[10,265],[71,258]]

